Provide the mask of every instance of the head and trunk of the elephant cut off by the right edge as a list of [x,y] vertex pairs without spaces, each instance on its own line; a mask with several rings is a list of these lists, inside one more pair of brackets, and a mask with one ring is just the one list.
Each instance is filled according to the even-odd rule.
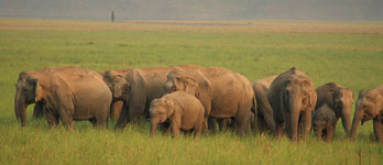
[[350,134],[352,141],[355,139],[359,122],[363,125],[364,122],[383,112],[383,86],[379,89],[365,90],[359,94]]

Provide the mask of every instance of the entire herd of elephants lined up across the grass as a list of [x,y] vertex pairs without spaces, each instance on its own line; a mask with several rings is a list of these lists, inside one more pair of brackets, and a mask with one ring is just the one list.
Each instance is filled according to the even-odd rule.
[[132,68],[97,73],[81,67],[54,67],[22,72],[17,82],[14,111],[24,127],[26,107],[35,103],[33,117],[45,118],[51,128],[59,121],[74,129],[74,121],[88,120],[102,128],[118,119],[116,129],[143,119],[176,138],[180,131],[217,132],[233,129],[243,136],[252,131],[286,133],[292,141],[330,142],[341,119],[347,136],[355,139],[359,122],[373,120],[377,142],[383,142],[383,86],[353,92],[335,82],[315,89],[313,80],[296,67],[277,76],[250,82],[244,76],[221,68],[196,65]]

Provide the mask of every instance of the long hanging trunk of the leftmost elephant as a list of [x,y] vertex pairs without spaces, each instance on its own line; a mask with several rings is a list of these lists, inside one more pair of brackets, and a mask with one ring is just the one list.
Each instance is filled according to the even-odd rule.
[[18,88],[14,97],[14,112],[17,119],[21,121],[21,127],[25,127],[26,123],[26,97],[22,92],[21,88]]

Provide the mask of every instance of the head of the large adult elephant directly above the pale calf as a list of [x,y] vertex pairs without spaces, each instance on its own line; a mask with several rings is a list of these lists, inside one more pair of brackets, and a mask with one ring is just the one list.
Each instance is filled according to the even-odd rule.
[[198,97],[199,85],[196,78],[184,70],[172,70],[167,75],[167,81],[164,85],[166,92],[186,91],[192,96]]

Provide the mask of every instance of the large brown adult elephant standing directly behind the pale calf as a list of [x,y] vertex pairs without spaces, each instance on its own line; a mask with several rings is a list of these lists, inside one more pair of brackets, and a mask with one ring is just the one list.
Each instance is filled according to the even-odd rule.
[[232,118],[238,132],[250,130],[251,108],[255,105],[251,82],[242,75],[219,67],[173,70],[164,85],[167,92],[186,91],[196,96],[205,108],[205,120]]

